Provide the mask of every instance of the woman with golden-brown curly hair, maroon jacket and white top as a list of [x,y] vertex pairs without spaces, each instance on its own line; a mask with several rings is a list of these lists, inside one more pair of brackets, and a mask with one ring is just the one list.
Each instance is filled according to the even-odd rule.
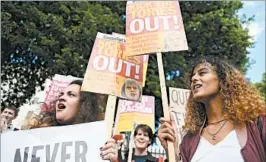
[[[177,156],[183,162],[265,162],[266,110],[259,93],[226,61],[205,57],[194,63]],[[158,136],[165,149],[167,140],[178,142],[174,128],[161,119]]]

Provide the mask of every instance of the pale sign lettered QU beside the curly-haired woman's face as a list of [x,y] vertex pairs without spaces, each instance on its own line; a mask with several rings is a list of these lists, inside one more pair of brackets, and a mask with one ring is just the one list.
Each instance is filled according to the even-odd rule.
[[182,126],[184,126],[185,112],[187,100],[190,94],[190,90],[181,88],[169,88],[170,96],[170,111],[174,116],[175,124],[177,126],[177,131],[179,133],[179,143],[184,134],[182,132]]

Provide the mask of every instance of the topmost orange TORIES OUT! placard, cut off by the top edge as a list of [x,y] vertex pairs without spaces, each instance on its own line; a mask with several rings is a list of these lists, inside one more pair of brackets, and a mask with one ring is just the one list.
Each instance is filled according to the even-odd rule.
[[188,50],[178,1],[128,1],[128,56]]

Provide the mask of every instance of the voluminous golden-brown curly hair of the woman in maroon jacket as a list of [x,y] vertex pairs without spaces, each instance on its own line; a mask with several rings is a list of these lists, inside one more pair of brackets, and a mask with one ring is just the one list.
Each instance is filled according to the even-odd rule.
[[[244,75],[227,61],[213,56],[205,56],[192,61],[192,68],[187,75],[189,87],[194,69],[200,64],[207,64],[216,71],[220,79],[220,93],[223,100],[224,117],[236,123],[252,122],[259,115],[265,115],[265,102],[259,92],[247,83]],[[206,117],[203,103],[196,102],[190,93],[184,129],[190,133],[200,130]]]

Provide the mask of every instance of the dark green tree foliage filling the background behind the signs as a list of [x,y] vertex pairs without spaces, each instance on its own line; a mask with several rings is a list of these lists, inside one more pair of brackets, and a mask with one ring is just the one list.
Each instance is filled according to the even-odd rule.
[[[185,72],[195,55],[219,55],[247,70],[252,43],[241,22],[251,19],[236,16],[241,2],[180,6],[189,50],[163,54],[165,73],[180,72],[167,86],[186,88]],[[125,7],[126,2],[1,2],[1,106],[20,106],[54,74],[83,77],[96,33],[125,33]],[[160,95],[156,55],[150,56],[144,89]]]

